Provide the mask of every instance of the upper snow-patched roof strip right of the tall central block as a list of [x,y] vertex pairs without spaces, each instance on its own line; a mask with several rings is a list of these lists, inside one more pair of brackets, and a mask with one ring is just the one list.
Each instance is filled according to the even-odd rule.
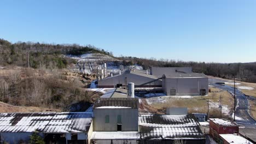
[[139,125],[197,125],[192,115],[140,115]]

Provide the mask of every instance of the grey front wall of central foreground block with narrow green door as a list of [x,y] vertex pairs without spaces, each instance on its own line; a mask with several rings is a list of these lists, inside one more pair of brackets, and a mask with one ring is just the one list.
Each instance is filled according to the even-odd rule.
[[[109,123],[105,123],[106,115]],[[94,109],[94,131],[117,131],[118,115],[121,115],[122,131],[138,131],[138,109]]]

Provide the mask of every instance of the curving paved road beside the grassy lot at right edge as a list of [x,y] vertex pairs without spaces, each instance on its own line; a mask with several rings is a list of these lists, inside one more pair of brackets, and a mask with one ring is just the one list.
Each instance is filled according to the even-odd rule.
[[[218,80],[218,79],[209,79],[209,84],[217,87],[219,89],[223,89],[224,91],[230,92],[232,95],[234,95],[234,87],[228,86],[228,85],[219,85],[216,82],[226,82],[224,80]],[[236,116],[239,118],[236,118],[236,122],[238,124],[242,124],[245,127],[255,127],[256,128],[256,121],[252,117],[249,116],[247,112],[248,107],[248,101],[246,98],[246,95],[242,92],[238,91],[236,89]]]

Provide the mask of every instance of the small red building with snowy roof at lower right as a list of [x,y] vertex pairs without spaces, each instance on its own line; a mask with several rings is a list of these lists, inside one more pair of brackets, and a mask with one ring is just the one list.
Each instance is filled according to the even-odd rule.
[[220,118],[210,118],[210,135],[214,140],[219,141],[219,134],[238,134],[238,125]]

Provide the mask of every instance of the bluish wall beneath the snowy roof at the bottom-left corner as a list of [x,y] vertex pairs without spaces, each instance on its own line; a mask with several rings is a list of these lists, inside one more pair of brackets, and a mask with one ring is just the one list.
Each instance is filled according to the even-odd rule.
[[[0,133],[1,141],[8,142],[9,144],[19,143],[20,140],[23,140],[25,143],[28,143],[32,133]],[[43,134],[40,134],[43,137]]]

